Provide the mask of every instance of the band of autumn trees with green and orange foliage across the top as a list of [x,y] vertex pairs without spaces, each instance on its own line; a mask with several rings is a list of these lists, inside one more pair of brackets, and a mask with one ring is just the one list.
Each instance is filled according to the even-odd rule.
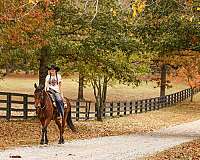
[[[113,81],[170,81],[194,88],[200,72],[198,0],[2,0],[0,68],[39,75],[55,63],[91,85],[101,110]],[[38,73],[39,71],[39,73]]]

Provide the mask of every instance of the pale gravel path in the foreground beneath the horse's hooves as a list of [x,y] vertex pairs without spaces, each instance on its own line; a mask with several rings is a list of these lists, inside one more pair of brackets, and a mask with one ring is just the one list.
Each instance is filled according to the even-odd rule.
[[[134,160],[200,136],[200,120],[151,134],[77,140],[64,145],[19,147],[0,151],[0,160]],[[21,156],[21,158],[12,158]]]

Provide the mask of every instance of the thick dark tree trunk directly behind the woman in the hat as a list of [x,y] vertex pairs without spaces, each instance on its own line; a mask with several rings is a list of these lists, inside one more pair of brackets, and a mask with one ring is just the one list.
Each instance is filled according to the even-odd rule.
[[40,54],[39,84],[45,86],[45,78],[48,74],[48,48],[43,47]]

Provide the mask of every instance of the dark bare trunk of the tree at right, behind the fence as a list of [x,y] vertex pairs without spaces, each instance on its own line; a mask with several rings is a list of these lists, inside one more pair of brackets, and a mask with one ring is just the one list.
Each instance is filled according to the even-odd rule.
[[167,65],[163,64],[161,67],[160,97],[165,96],[166,80],[167,80]]

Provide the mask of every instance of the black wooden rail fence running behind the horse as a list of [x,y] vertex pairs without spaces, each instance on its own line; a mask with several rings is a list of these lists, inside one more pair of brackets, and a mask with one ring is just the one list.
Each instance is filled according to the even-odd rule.
[[[199,88],[185,89],[164,97],[137,101],[106,102],[103,117],[123,116],[158,110],[180,103],[198,93]],[[33,95],[0,92],[0,118],[28,119],[36,117]],[[72,100],[72,118],[75,120],[95,119],[97,109],[94,102]]]

